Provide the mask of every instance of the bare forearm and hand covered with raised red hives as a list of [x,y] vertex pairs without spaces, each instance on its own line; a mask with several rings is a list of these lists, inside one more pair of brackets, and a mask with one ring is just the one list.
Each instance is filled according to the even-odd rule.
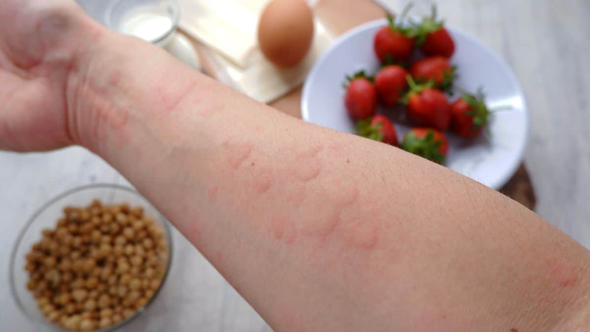
[[520,204],[45,3],[0,3],[0,149],[99,154],[276,331],[590,323],[588,251]]

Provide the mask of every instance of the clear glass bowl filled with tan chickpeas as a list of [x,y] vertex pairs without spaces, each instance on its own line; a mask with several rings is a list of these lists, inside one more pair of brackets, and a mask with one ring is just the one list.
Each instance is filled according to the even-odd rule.
[[114,330],[155,300],[171,257],[168,221],[146,198],[120,185],[86,185],[27,222],[12,250],[11,291],[42,326]]

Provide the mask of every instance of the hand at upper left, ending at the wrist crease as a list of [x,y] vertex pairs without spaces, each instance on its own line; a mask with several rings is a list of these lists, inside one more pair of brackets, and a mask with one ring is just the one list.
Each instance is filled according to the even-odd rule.
[[70,77],[99,25],[71,0],[0,2],[0,149],[75,144]]

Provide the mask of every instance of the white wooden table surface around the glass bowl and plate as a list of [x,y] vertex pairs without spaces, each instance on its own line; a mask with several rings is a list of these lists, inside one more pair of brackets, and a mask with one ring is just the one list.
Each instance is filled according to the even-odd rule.
[[[590,66],[585,61],[590,2],[445,0],[439,9],[447,22],[476,35],[516,71],[530,107],[526,165],[537,212],[590,248]],[[9,255],[19,230],[45,201],[89,183],[127,181],[78,147],[46,154],[0,152],[1,331],[43,330],[19,312],[8,287]],[[122,330],[270,331],[178,232],[175,248],[158,300]]]

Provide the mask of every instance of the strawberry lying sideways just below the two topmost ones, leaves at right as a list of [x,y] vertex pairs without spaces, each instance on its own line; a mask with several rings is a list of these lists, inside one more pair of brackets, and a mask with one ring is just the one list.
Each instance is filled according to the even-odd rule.
[[456,67],[448,63],[448,59],[441,56],[423,58],[412,63],[409,71],[418,82],[434,81],[434,86],[450,92],[456,77]]

